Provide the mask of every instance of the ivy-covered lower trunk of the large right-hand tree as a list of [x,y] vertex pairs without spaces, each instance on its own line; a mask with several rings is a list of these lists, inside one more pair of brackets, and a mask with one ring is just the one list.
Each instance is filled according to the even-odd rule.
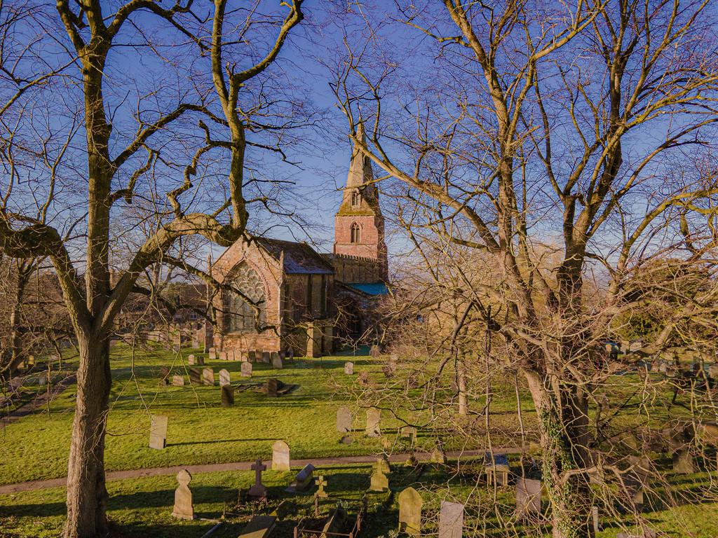
[[587,468],[588,400],[574,386],[556,391],[549,380],[526,374],[541,436],[542,471],[551,504],[553,538],[593,538]]

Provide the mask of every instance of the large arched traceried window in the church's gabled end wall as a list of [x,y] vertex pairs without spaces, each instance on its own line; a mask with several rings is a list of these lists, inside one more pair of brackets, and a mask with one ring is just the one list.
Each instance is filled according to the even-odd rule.
[[257,321],[264,324],[266,314],[266,296],[264,282],[246,262],[242,262],[235,270],[232,285],[254,303],[253,306],[237,293],[229,295],[229,331],[256,332]]

